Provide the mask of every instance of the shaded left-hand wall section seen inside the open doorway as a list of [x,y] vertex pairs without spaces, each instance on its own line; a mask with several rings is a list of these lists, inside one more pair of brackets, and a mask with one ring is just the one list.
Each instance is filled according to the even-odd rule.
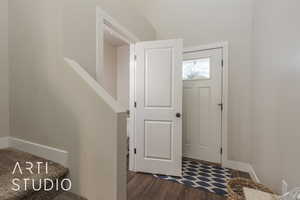
[[117,99],[117,47],[104,40],[103,68],[100,84]]

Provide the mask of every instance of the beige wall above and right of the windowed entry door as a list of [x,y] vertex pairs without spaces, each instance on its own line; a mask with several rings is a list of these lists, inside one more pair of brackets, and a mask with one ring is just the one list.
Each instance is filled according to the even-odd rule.
[[229,41],[229,159],[250,160],[252,0],[132,0],[159,39],[185,46]]

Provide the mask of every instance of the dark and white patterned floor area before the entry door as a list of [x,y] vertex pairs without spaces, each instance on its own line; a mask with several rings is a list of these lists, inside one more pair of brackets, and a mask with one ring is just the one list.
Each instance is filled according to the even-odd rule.
[[218,195],[227,195],[227,182],[232,178],[230,169],[191,160],[183,160],[182,170],[182,177],[157,174],[154,176]]

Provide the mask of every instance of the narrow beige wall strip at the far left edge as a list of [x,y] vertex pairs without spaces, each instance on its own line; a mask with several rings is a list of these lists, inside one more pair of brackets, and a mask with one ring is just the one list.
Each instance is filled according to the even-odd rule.
[[8,0],[0,1],[0,138],[9,135]]

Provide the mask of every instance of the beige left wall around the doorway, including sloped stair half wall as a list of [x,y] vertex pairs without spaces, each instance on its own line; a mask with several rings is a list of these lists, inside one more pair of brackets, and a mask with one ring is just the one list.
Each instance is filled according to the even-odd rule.
[[125,191],[116,152],[126,152],[116,134],[125,118],[62,62],[70,57],[95,75],[96,5],[142,39],[154,34],[124,0],[9,0],[11,135],[67,150],[73,189],[90,200]]

